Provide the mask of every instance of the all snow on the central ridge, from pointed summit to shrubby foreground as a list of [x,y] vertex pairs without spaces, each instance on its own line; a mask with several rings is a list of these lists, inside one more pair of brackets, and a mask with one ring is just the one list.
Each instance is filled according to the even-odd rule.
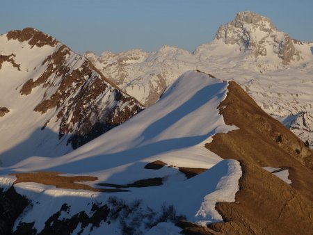
[[[209,143],[215,133],[236,129],[224,123],[217,108],[226,93],[226,81],[200,72],[186,72],[156,104],[70,154],[53,159],[34,156],[10,168],[1,168],[1,174],[45,170],[88,175],[98,178],[88,183],[95,188],[116,189],[120,185],[127,190],[97,193],[35,183],[16,184],[17,192],[26,195],[33,203],[17,220],[15,228],[22,226],[22,222],[35,222],[33,227],[40,232],[49,226],[46,221],[52,214],[61,210],[59,220],[72,218],[79,211],[86,211],[90,216],[93,204],[108,205],[111,211],[118,205],[132,208],[131,214],[121,209],[120,220],[113,220],[109,213],[93,234],[106,231],[120,234],[120,229],[131,225],[134,232],[143,233],[159,222],[175,222],[182,218],[180,216],[201,225],[222,221],[215,204],[234,202],[241,167],[238,161],[223,160],[210,152],[204,148],[204,143]],[[167,165],[159,170],[145,167],[157,160]],[[179,171],[182,167],[209,170],[186,179]],[[127,186],[138,180],[157,178],[161,179],[159,186]],[[14,180],[2,179],[6,188],[8,181]],[[70,208],[61,209],[63,204]],[[123,217],[125,213],[129,216]],[[162,217],[164,213],[168,215],[166,219]],[[162,226],[170,225],[161,224],[151,233]],[[80,229],[77,227],[75,231]],[[90,227],[84,229],[88,232]]]

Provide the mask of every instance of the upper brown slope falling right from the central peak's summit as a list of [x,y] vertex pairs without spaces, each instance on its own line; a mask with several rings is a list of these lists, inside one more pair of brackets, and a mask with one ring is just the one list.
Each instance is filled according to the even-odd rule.
[[[282,166],[288,163],[293,167],[296,163],[291,159],[296,159],[307,168],[313,169],[312,149],[305,146],[303,141],[278,120],[262,111],[234,81],[230,82],[228,89],[227,98],[220,104],[220,113],[223,114],[226,124],[234,124],[239,129],[227,134],[217,134],[213,139],[223,141],[223,145],[227,145],[228,151],[234,154],[232,159],[241,156],[238,160],[242,160],[246,156],[245,160],[257,161],[262,166]],[[271,139],[271,142],[266,139]],[[207,144],[209,149],[211,149],[211,145],[218,146],[214,140]],[[230,142],[225,143],[225,141]],[[265,143],[267,143],[267,147],[265,147]],[[262,145],[264,146],[262,147]],[[234,148],[238,148],[237,152]],[[269,150],[270,148],[271,150]],[[216,149],[211,150],[217,151]],[[281,150],[282,152],[280,152]],[[225,149],[225,151],[227,150]],[[271,156],[268,156],[266,152],[271,152]],[[218,152],[218,154],[225,156],[225,152]]]

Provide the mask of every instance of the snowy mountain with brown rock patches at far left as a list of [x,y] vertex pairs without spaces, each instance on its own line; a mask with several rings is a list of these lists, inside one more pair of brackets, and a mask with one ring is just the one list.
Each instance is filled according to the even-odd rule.
[[86,58],[30,28],[0,36],[0,94],[0,165],[61,156],[141,109]]

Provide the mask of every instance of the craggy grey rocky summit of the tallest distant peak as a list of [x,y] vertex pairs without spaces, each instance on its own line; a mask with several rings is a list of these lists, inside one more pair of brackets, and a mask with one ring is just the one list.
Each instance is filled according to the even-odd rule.
[[[300,60],[300,53],[289,35],[278,31],[270,19],[257,13],[237,13],[232,22],[220,26],[216,39],[222,39],[226,44],[239,44],[241,49],[252,51],[255,57],[273,52],[284,65],[291,60]],[[268,46],[272,51],[267,51]]]

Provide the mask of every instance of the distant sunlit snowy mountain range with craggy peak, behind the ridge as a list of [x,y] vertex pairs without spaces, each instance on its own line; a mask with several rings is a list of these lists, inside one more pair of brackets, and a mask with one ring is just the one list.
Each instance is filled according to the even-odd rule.
[[[176,47],[159,51],[141,50],[119,54],[85,54],[109,79],[150,106],[163,90],[188,70],[209,72],[234,80],[274,116],[313,113],[313,43],[293,40],[279,31],[271,20],[251,12],[238,13],[220,26],[216,38],[195,49],[193,54]],[[305,119],[308,126],[313,122]],[[294,129],[291,129],[294,131]],[[313,146],[313,132],[294,131]]]

